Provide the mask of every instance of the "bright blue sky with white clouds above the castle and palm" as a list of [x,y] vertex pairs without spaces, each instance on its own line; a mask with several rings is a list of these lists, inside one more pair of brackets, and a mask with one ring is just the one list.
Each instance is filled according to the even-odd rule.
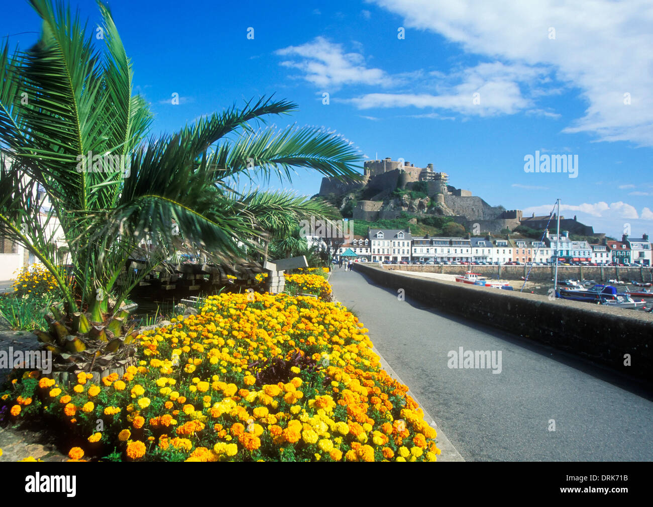
[[[547,214],[560,197],[565,217],[597,232],[620,237],[629,223],[631,237],[652,234],[653,4],[493,4],[108,3],[153,133],[276,93],[300,108],[278,125],[334,129],[372,159],[434,163],[492,205]],[[71,5],[94,29],[95,1]],[[39,29],[27,2],[3,6],[0,36]],[[27,48],[37,37],[10,42]],[[578,155],[577,177],[525,172],[535,150]],[[272,186],[313,195],[320,180],[300,171]]]

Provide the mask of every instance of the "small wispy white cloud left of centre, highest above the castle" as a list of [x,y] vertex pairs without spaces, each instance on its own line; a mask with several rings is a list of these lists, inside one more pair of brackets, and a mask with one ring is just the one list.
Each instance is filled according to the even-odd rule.
[[303,78],[320,87],[338,88],[343,84],[382,85],[386,74],[381,69],[369,69],[360,53],[345,53],[342,44],[316,37],[300,46],[288,46],[275,52],[287,59],[285,67],[300,69]]

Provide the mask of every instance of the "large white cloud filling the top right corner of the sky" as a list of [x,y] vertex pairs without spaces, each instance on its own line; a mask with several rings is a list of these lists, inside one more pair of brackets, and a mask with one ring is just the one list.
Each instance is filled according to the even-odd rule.
[[466,52],[553,67],[558,85],[581,90],[587,104],[584,116],[563,132],[653,146],[650,0],[374,2],[402,16],[404,26],[438,33]]

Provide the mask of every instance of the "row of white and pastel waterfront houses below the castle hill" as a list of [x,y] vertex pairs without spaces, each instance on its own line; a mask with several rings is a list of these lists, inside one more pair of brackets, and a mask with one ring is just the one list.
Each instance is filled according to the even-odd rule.
[[542,241],[492,237],[423,237],[413,236],[410,229],[369,229],[367,237],[353,236],[338,248],[337,257],[359,261],[421,262],[485,262],[485,263],[551,263],[589,262],[597,264],[652,264],[648,235],[622,241],[604,240],[590,244],[575,241],[563,231],[558,237],[545,233]]

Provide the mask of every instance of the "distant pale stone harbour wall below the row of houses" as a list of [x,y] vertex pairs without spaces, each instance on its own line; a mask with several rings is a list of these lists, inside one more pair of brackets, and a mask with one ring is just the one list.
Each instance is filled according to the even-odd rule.
[[[377,263],[372,263],[377,265]],[[396,265],[383,265],[384,269]],[[443,274],[464,274],[471,269],[480,273],[486,278],[502,280],[523,280],[528,274],[528,280],[532,282],[550,282],[554,276],[553,266],[471,266],[467,265],[400,265],[402,271],[421,271],[427,273]],[[624,282],[653,282],[653,268],[631,268],[631,267],[586,267],[586,266],[558,266],[558,280],[594,280],[597,283],[608,280],[623,280]]]

